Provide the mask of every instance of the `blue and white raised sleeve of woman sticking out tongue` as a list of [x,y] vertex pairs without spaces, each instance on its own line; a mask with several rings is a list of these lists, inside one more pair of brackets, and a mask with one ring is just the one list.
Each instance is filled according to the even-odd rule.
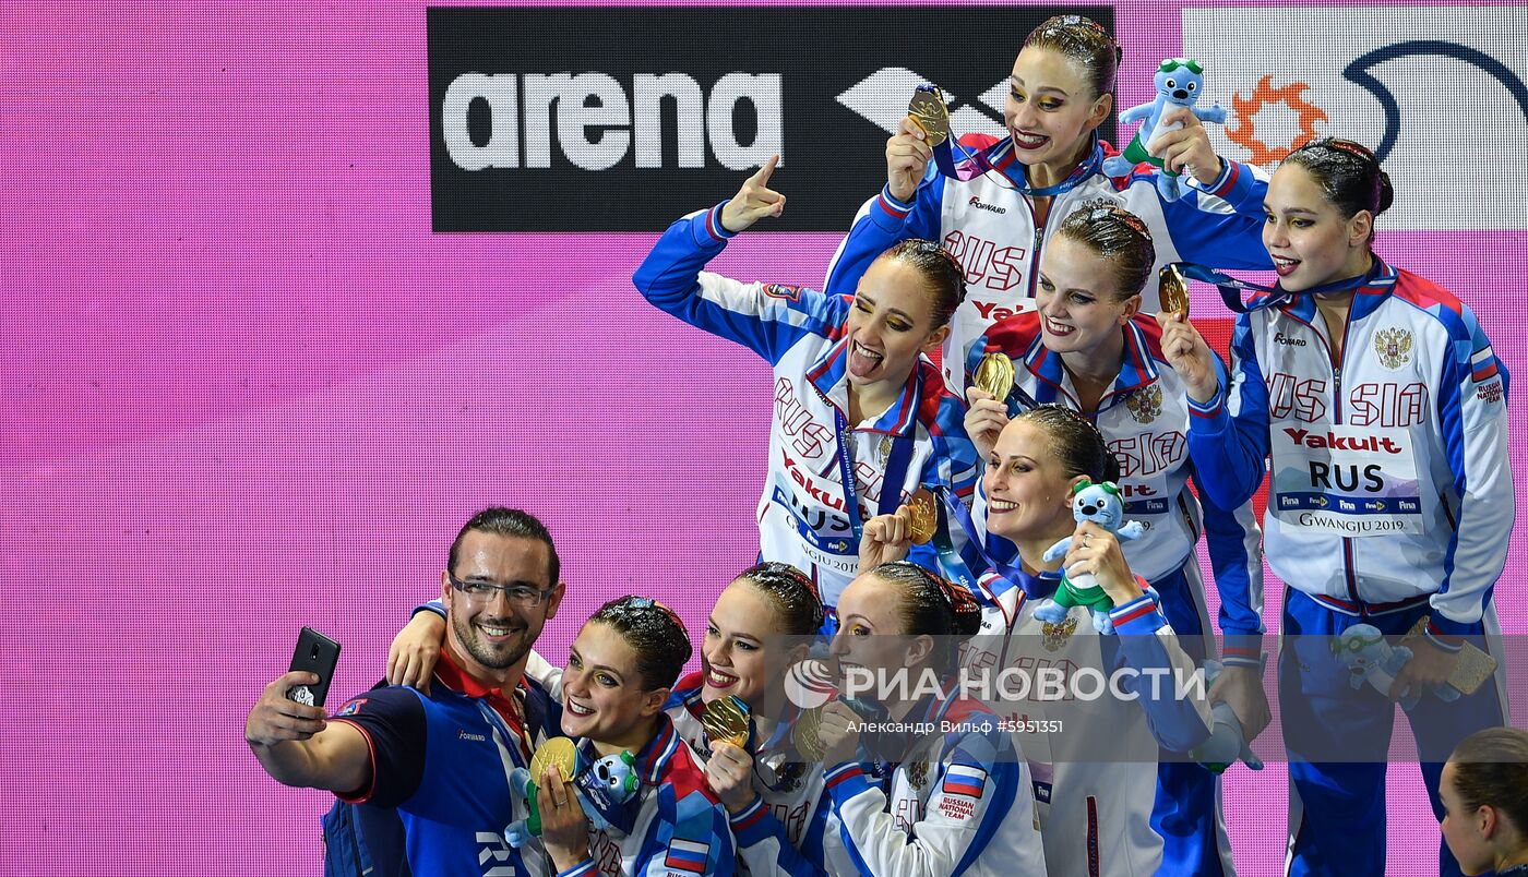
[[848,299],[703,272],[733,237],[721,226],[726,203],[671,225],[631,281],[659,310],[735,341],[773,365],[804,335],[831,335],[848,316]]

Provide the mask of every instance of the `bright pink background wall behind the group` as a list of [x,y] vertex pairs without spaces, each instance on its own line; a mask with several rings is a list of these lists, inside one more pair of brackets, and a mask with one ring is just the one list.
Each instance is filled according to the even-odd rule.
[[[1117,17],[1131,105],[1181,50],[1178,6]],[[304,623],[344,643],[333,703],[370,686],[484,504],[558,539],[555,660],[620,593],[700,629],[752,561],[762,364],[640,301],[651,234],[431,234],[422,5],[23,0],[0,64],[0,872],[316,874],[329,799],[269,781],[244,715]],[[746,237],[717,269],[816,284],[834,244]],[[1380,249],[1522,373],[1523,244]],[[1508,633],[1525,568],[1519,533]],[[1394,775],[1410,869],[1436,834]],[[1282,863],[1284,788],[1232,775],[1247,874]]]

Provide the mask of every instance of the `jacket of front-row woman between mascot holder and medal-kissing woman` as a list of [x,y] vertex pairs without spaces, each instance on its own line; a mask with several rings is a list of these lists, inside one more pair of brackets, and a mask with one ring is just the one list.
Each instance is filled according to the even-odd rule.
[[[701,762],[711,758],[711,738],[700,721],[706,709],[700,697],[703,684],[701,674],[692,672],[678,680],[663,704],[674,721],[674,730]],[[729,814],[729,820],[733,834],[759,837],[752,845],[738,842],[738,871],[766,877],[779,869],[778,845],[801,848],[822,799],[822,765],[790,761],[793,750],[788,741],[785,746],[770,746],[770,741],[755,739],[752,749],[753,791],[758,799],[747,810]]]

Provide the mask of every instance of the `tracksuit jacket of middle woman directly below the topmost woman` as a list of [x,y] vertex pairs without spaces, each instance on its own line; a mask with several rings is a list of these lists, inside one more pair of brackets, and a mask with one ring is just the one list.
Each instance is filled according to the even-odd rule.
[[[1183,379],[1161,353],[1161,328],[1151,316],[1137,315],[1122,332],[1125,362],[1114,387],[1091,416],[1120,463],[1125,518],[1146,527],[1140,539],[1122,542],[1120,549],[1131,571],[1163,596],[1163,613],[1178,636],[1195,636],[1209,626],[1204,584],[1193,553],[1203,530],[1221,594],[1219,626],[1227,636],[1225,660],[1258,666],[1264,631],[1262,533],[1251,501],[1242,501],[1229,512],[1212,506],[1209,513],[1203,513],[1199,500],[1189,489],[1190,481],[1198,486],[1201,478],[1189,455],[1189,396]],[[1082,409],[1060,354],[1051,353],[1041,338],[1038,313],[1021,313],[993,324],[970,347],[967,373],[973,374],[981,358],[990,351],[1013,361],[1015,385],[1036,402]],[[996,558],[999,562],[1016,562],[1018,549],[1007,539],[987,535],[986,544],[1005,552],[1004,558]]]

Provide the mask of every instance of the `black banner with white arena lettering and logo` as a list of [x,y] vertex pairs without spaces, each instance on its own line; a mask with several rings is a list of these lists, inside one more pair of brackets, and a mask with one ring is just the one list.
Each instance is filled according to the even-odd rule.
[[[847,231],[921,83],[958,133],[1002,133],[1024,37],[1108,6],[431,8],[437,232],[659,231],[769,156],[772,231]],[[1105,124],[1112,138],[1112,118]]]

